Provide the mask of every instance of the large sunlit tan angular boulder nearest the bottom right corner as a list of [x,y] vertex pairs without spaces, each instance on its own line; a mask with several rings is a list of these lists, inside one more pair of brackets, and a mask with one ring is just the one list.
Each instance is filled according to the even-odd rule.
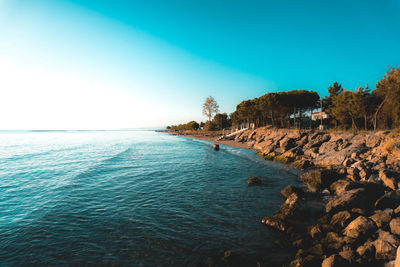
[[378,234],[379,236],[374,242],[375,258],[377,260],[394,260],[396,258],[397,247],[400,244],[399,239],[383,230],[379,230]]

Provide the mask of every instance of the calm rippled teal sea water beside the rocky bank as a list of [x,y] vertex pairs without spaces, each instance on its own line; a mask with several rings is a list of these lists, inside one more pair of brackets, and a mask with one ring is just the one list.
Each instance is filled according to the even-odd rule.
[[203,266],[227,250],[276,263],[278,233],[260,222],[298,175],[165,133],[3,132],[0,265]]

